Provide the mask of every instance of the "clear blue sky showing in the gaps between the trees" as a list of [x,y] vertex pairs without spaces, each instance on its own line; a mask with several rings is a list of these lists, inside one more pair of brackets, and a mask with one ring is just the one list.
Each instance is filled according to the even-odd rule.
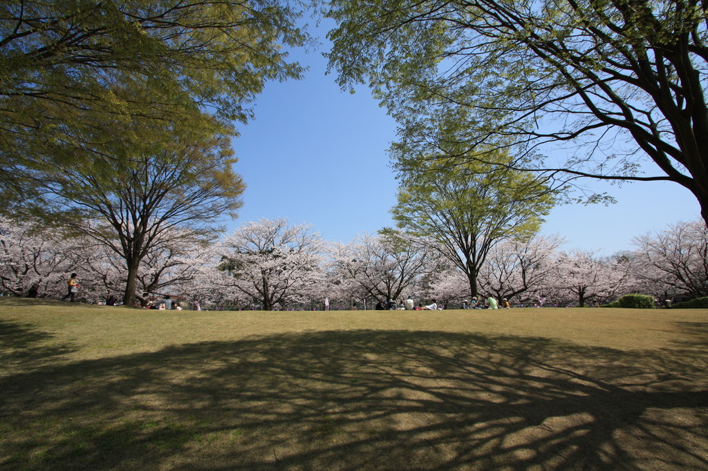
[[[255,120],[239,125],[234,169],[248,188],[239,219],[227,223],[229,232],[245,221],[285,217],[313,224],[326,240],[348,242],[394,225],[389,209],[397,182],[387,149],[396,140],[396,123],[367,88],[340,91],[336,77],[325,75],[321,51],[292,54],[309,66],[304,79],[268,83]],[[612,255],[632,250],[634,236],[700,218],[695,198],[673,183],[591,185],[610,192],[617,204],[556,207],[542,233],[564,236],[567,249]]]

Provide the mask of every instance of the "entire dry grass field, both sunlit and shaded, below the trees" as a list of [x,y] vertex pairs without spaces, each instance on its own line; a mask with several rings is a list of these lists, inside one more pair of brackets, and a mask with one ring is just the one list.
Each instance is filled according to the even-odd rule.
[[3,470],[708,470],[708,310],[0,298]]

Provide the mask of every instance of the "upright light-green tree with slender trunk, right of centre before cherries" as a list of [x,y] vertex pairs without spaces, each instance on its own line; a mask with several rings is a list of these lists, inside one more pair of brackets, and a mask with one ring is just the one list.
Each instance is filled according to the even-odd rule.
[[473,159],[421,158],[406,171],[392,209],[400,228],[429,240],[467,275],[472,296],[489,251],[502,240],[530,238],[554,204],[543,180],[483,167]]

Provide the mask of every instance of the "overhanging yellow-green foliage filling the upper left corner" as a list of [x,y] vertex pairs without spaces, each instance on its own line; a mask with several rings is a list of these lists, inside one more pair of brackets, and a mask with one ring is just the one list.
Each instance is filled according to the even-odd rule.
[[120,158],[139,121],[164,126],[153,142],[233,132],[265,81],[300,76],[283,49],[307,41],[298,16],[278,0],[1,2],[0,192],[41,194],[47,160]]

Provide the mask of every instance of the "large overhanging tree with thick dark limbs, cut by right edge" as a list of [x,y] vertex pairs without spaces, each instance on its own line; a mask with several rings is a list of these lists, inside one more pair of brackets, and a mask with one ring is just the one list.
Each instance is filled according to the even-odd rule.
[[[401,124],[401,144],[418,153],[513,145],[518,159],[504,165],[565,181],[675,182],[708,221],[703,2],[334,0],[329,8],[340,83],[368,80]],[[455,133],[445,123],[457,123]],[[642,167],[649,161],[656,166]]]

